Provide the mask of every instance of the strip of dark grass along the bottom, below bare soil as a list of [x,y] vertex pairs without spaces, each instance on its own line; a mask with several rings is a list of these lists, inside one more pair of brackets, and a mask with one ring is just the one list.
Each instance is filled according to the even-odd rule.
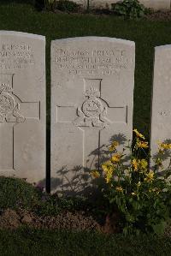
[[91,232],[18,229],[0,231],[0,255],[168,256],[171,239]]

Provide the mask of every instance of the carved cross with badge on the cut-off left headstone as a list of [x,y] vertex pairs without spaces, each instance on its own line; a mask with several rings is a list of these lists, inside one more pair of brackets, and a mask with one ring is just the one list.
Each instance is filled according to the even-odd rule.
[[[9,140],[3,143],[3,152],[1,153],[3,162],[0,163],[0,171],[15,170],[15,125],[25,122],[26,119],[33,118],[39,120],[40,118],[39,102],[22,102],[21,98],[15,95],[15,86],[13,85],[14,75],[15,74],[0,74],[0,129],[1,136],[9,138]],[[24,115],[21,114],[22,112]]]

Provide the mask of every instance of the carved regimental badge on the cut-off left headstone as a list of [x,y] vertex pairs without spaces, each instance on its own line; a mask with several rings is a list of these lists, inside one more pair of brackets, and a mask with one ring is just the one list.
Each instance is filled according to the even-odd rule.
[[24,122],[20,114],[21,100],[13,93],[8,82],[0,82],[0,122]]

